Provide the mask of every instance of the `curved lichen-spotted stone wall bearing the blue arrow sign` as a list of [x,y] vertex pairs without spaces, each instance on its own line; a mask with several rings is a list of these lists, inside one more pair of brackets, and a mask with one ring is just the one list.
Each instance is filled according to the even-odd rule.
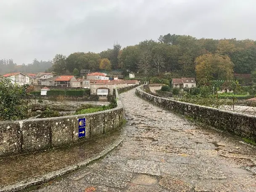
[[[119,97],[116,92],[116,97]],[[78,119],[86,118],[86,137],[78,138]],[[90,139],[117,129],[123,105],[96,113],[0,122],[0,156],[46,150]]]

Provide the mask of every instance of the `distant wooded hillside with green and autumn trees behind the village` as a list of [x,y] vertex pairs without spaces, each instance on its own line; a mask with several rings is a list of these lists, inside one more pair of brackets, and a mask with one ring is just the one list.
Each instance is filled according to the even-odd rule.
[[[8,65],[3,64],[3,60],[0,63],[8,66],[9,70],[5,71],[13,68],[16,70],[12,60],[6,62]],[[74,69],[76,72],[81,69],[105,69],[123,71],[124,75],[130,71],[146,76],[157,76],[163,72],[196,78],[198,75],[199,79],[208,75],[209,80],[232,79],[233,74],[253,74],[255,77],[256,41],[197,39],[189,35],[166,34],[161,35],[157,41],[145,40],[124,48],[117,44],[100,53],[78,52],[68,56],[57,54],[53,58],[53,66],[51,61],[34,60],[18,71],[45,71],[46,67],[48,71],[63,75],[74,74]]]

